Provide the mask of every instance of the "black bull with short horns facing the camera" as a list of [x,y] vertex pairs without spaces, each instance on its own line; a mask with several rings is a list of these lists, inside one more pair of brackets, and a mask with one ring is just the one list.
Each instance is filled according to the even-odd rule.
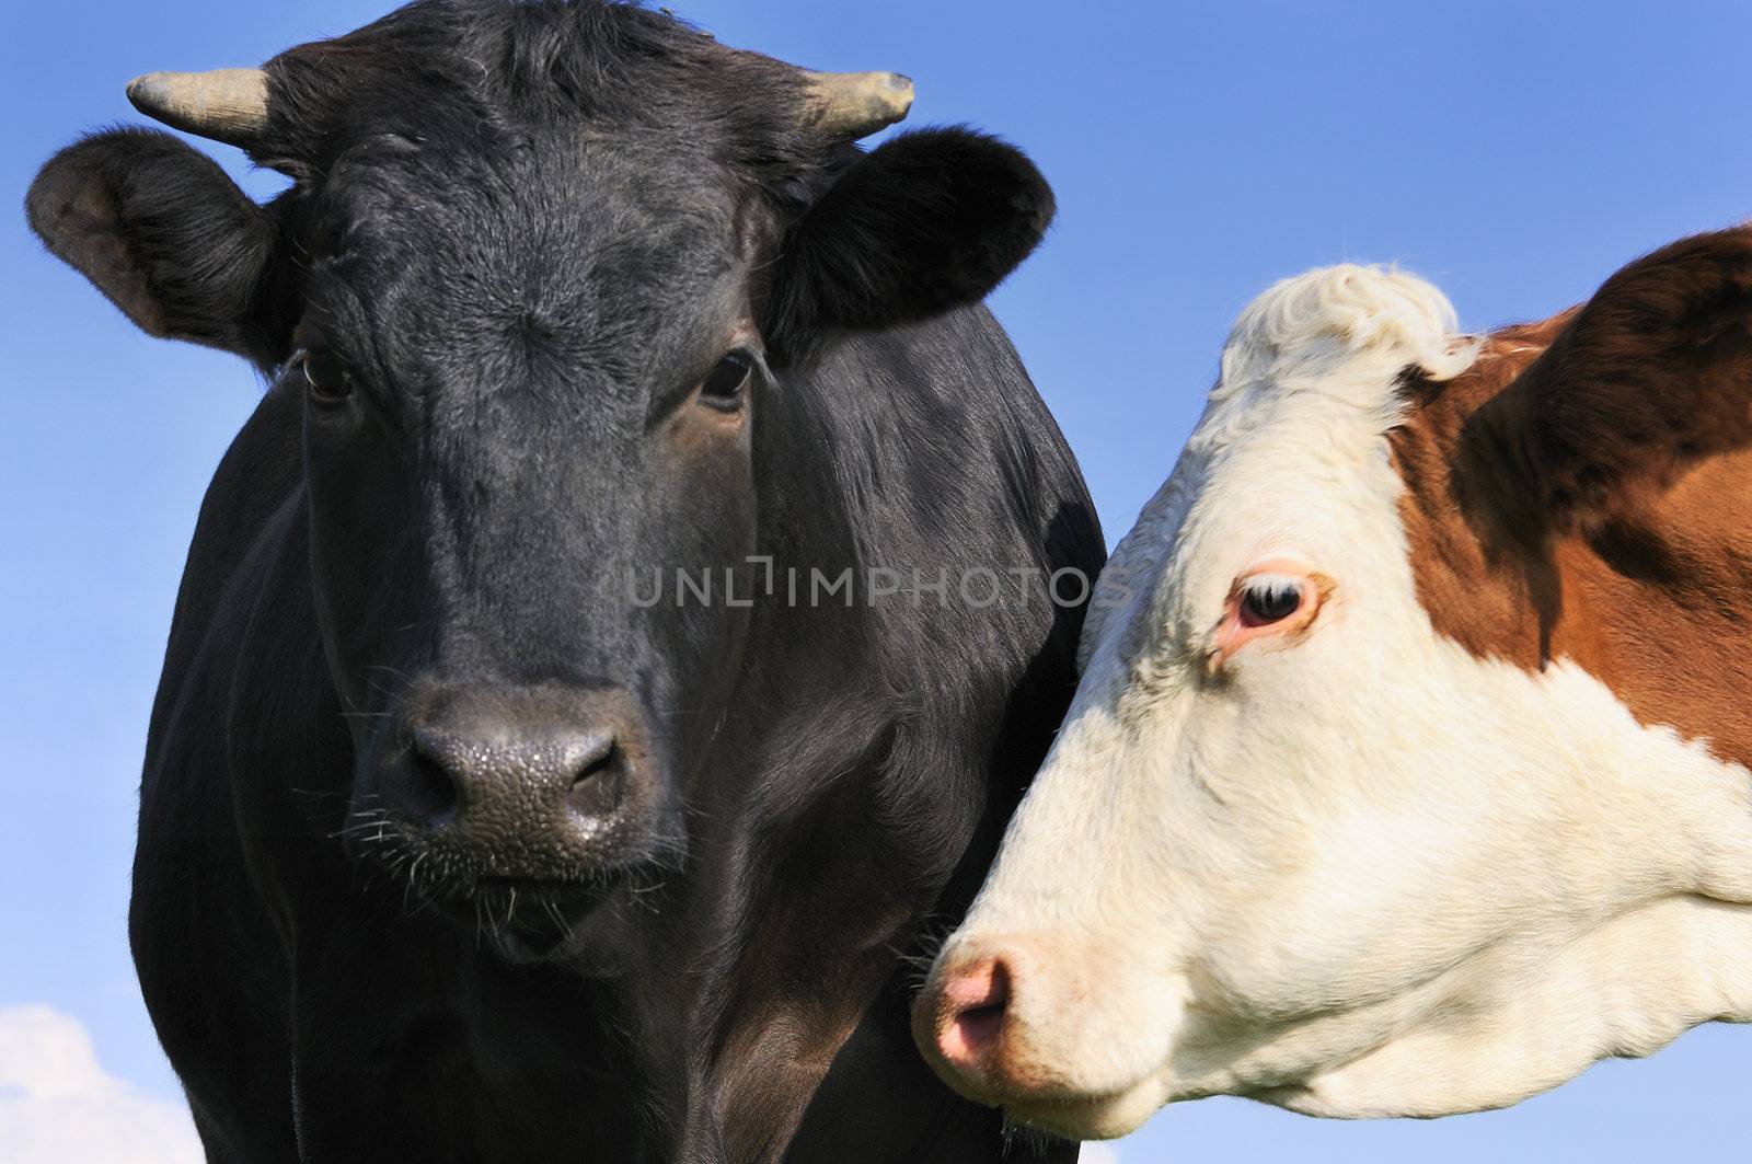
[[1070,694],[1048,578],[1102,554],[978,305],[1039,174],[864,154],[797,70],[620,5],[422,4],[251,75],[166,119],[291,175],[270,205],[142,130],[28,205],[270,379],[135,861],[208,1155],[1074,1155],[906,1015]]

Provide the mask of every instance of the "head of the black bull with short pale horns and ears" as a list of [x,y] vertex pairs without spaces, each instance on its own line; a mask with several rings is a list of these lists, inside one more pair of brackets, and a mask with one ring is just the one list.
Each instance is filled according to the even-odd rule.
[[[145,331],[303,394],[350,852],[436,901],[522,891],[568,927],[682,859],[715,733],[759,713],[732,699],[752,608],[725,594],[816,456],[771,421],[787,372],[985,296],[1051,195],[964,130],[858,153],[904,116],[902,77],[580,5],[592,56],[540,5],[463,7],[130,86],[289,175],[268,205],[170,135],[114,130],[54,158],[28,210]],[[678,607],[683,571],[717,601]]]

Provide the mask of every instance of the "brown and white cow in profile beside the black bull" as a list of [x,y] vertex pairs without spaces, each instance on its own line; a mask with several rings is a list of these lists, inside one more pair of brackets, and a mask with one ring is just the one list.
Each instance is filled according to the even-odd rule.
[[1261,295],[918,999],[937,1071],[1100,1138],[1752,1020],[1748,405],[1752,228],[1482,338],[1391,270]]

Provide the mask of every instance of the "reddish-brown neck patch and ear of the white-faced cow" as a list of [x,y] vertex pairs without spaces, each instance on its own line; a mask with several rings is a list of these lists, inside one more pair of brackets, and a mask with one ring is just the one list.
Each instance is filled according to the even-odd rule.
[[1752,764],[1752,231],[1687,238],[1491,335],[1391,433],[1437,631],[1570,659]]

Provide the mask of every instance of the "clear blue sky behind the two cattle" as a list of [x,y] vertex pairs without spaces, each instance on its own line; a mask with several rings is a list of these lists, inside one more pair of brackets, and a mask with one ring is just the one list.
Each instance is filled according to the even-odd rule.
[[[811,67],[908,72],[909,124],[972,123],[1035,158],[1058,223],[993,309],[1109,542],[1167,475],[1228,323],[1272,280],[1398,261],[1486,328],[1752,210],[1752,7],[1727,0],[673,7]],[[258,63],[382,11],[9,4],[0,205],[19,207],[75,133],[135,119],[135,74]],[[207,149],[252,193],[279,186]],[[137,333],[18,210],[0,216],[0,1008],[77,1018],[112,1076],[173,1099],[124,938],[135,787],[196,505],[259,389],[230,356]],[[0,1064],[21,1047],[0,1024]],[[1706,1027],[1515,1110],[1430,1124],[1205,1101],[1160,1113],[1121,1159],[1740,1159],[1748,1062],[1752,1031]]]

